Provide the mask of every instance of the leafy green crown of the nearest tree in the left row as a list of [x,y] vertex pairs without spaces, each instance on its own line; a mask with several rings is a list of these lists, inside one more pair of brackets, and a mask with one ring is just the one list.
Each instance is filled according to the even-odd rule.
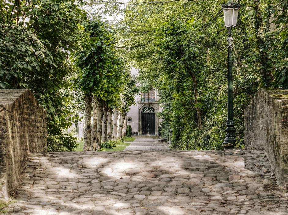
[[84,94],[96,95],[115,105],[120,97],[126,65],[113,48],[112,29],[102,21],[91,21],[85,26],[88,40],[83,50],[74,54],[72,61],[79,69],[76,88]]

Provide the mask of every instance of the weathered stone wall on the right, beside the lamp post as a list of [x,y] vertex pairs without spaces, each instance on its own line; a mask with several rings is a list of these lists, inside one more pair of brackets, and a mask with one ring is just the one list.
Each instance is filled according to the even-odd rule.
[[245,109],[245,147],[265,149],[280,184],[288,183],[288,90],[262,88]]

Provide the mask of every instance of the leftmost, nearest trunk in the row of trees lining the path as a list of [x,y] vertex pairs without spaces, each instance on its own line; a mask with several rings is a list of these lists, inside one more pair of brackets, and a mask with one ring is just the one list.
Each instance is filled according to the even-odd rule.
[[83,151],[89,151],[91,145],[91,111],[92,111],[92,96],[85,94],[85,116],[84,116],[84,144]]

